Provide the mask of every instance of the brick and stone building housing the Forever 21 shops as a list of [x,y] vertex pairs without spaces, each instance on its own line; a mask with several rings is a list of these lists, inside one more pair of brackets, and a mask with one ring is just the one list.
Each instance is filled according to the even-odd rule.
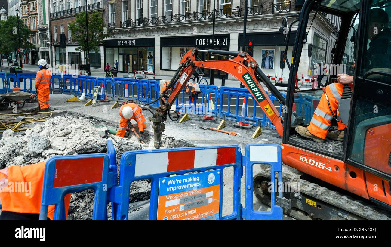
[[[157,75],[173,75],[183,55],[193,47],[242,50],[244,5],[245,0],[215,1],[215,38],[212,40],[212,0],[105,1],[104,21],[111,37],[105,39],[104,61],[112,64],[117,60],[121,72],[144,69],[153,70]],[[255,60],[266,75],[289,75],[287,68],[280,68],[285,42],[279,30],[282,18],[300,9],[295,1],[249,0],[246,42],[253,42]],[[308,41],[301,54],[303,76],[313,75],[318,62],[330,63],[337,26],[327,15],[318,14],[308,29]],[[292,56],[296,30],[297,23],[289,40],[288,57]],[[312,45],[311,57],[308,57],[308,45]],[[201,59],[208,59],[207,56]],[[208,70],[204,73],[210,76]],[[225,72],[215,70],[214,73],[217,78],[232,78]]]

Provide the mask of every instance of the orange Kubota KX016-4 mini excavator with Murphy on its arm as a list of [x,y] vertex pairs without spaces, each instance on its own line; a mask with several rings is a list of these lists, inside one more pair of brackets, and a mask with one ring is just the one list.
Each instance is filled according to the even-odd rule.
[[[183,56],[174,77],[157,99],[160,106],[150,117],[155,147],[160,147],[167,112],[194,70],[197,67],[221,70],[233,75],[251,92],[282,137],[283,163],[295,168],[287,167],[284,170],[284,180],[298,182],[301,186],[301,192],[284,191],[285,199],[278,204],[285,207],[285,213],[296,218],[311,219],[390,219],[391,32],[388,20],[391,18],[377,27],[382,21],[371,15],[373,9],[381,9],[376,11],[391,17],[391,0],[307,0],[300,12],[283,19],[281,29],[289,29],[283,34],[286,42],[293,24],[298,23],[293,57],[288,59],[285,54],[283,60],[290,70],[286,99],[248,53],[193,48]],[[324,143],[316,143],[294,131],[294,127],[307,126],[309,122],[293,106],[295,99],[306,98],[311,100],[314,109],[323,94],[321,89],[300,90],[296,86],[296,75],[300,60],[307,56],[307,51],[301,55],[303,48],[307,48],[307,40],[314,37],[312,22],[308,25],[309,21],[316,18],[326,20],[326,14],[338,16],[341,20],[341,27],[335,32],[335,46],[331,49],[331,64],[343,64],[346,60],[345,49],[353,48],[355,70],[352,92],[345,97],[350,98],[350,104],[344,107],[347,109],[344,114],[348,125],[344,130],[344,141],[326,139]],[[289,19],[292,21],[288,27]],[[374,28],[378,28],[380,40],[371,34]],[[378,61],[379,55],[371,54],[371,47],[374,46],[379,51],[388,51],[385,53],[388,55],[381,58],[384,59],[381,63]],[[288,50],[288,45],[285,50]],[[200,53],[222,59],[200,61]],[[330,71],[326,84],[335,82],[333,75],[335,77],[336,74]],[[287,111],[283,116],[280,116],[261,82],[280,104],[286,106]],[[310,114],[311,118],[313,111]],[[340,114],[343,115],[341,111]],[[267,186],[264,185],[268,180],[270,174],[269,177],[258,174],[253,179],[254,192],[260,200],[267,197]]]

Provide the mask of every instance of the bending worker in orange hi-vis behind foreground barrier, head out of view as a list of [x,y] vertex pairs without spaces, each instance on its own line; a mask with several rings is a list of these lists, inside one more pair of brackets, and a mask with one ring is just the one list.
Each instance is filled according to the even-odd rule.
[[[45,162],[0,170],[0,220],[39,219],[44,172]],[[65,195],[64,203],[67,215],[70,194]],[[48,207],[48,218],[54,218],[54,205]]]

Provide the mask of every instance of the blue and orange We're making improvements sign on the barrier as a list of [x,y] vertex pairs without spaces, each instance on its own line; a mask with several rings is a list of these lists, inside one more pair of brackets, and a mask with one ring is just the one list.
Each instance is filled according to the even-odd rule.
[[220,170],[162,177],[158,220],[218,220]]

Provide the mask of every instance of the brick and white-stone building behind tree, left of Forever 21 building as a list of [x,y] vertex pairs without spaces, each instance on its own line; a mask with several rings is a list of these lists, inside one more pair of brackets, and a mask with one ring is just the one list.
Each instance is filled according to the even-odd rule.
[[[50,38],[53,43],[52,59],[56,65],[86,63],[84,52],[76,50],[79,45],[72,38],[71,31],[68,29],[68,25],[75,21],[78,14],[85,13],[85,2],[85,0],[50,0]],[[103,0],[88,0],[88,13],[99,12],[103,17],[103,2]],[[63,44],[61,44],[60,34],[65,34]],[[101,57],[103,57],[103,46],[99,47],[99,52],[90,51],[90,66],[92,69],[103,69],[104,61]]]

